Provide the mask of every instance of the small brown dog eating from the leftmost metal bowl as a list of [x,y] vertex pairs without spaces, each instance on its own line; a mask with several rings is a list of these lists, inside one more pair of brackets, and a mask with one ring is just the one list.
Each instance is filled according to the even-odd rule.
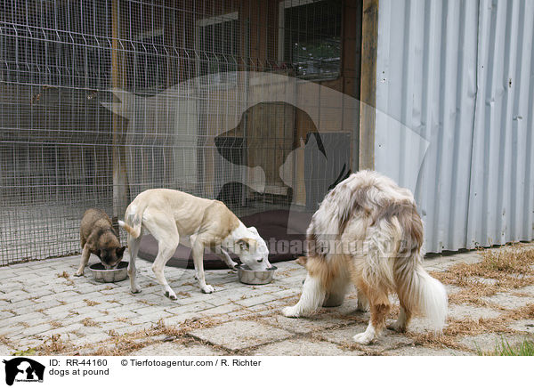
[[117,232],[113,229],[108,214],[100,209],[88,209],[80,226],[82,261],[76,276],[84,274],[91,254],[97,255],[106,269],[113,269],[122,260],[126,247],[120,246]]

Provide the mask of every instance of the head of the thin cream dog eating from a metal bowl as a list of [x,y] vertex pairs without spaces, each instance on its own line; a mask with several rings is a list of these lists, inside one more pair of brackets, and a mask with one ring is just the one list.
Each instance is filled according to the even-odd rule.
[[241,263],[253,271],[265,271],[271,268],[269,263],[269,249],[255,227],[247,228],[244,236],[236,240],[234,253],[239,256]]

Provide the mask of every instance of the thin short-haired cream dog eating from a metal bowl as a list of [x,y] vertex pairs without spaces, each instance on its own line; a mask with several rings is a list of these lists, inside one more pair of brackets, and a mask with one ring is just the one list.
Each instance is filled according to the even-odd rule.
[[231,269],[236,263],[228,250],[239,255],[242,263],[253,270],[267,270],[271,264],[269,250],[254,227],[247,228],[231,213],[223,202],[198,198],[178,190],[153,189],[139,194],[126,208],[125,222],[119,221],[128,233],[130,264],[128,275],[133,293],[141,291],[135,278],[135,257],[139,251],[143,229],[158,240],[158,255],[152,265],[164,294],[176,299],[163,274],[166,263],[180,243],[180,237],[189,236],[198,286],[206,294],[214,287],[204,277],[204,248],[221,249],[224,263]]

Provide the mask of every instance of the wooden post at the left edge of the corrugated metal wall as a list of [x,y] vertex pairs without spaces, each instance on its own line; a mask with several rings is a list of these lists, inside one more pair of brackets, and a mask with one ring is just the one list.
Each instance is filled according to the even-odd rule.
[[361,21],[360,170],[375,168],[378,0],[363,0]]

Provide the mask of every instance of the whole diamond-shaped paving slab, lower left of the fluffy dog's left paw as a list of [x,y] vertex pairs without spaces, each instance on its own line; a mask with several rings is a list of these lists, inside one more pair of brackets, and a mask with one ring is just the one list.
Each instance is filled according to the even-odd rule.
[[235,320],[215,327],[193,330],[190,335],[211,344],[221,345],[232,351],[237,351],[281,340],[292,334],[286,330],[255,321]]

